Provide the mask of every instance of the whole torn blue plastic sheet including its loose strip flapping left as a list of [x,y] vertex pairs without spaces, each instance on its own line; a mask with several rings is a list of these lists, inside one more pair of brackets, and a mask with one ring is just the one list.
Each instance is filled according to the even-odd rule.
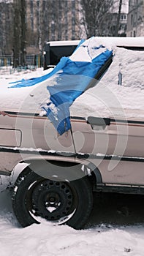
[[[89,54],[88,46],[80,45],[78,48],[84,47]],[[50,85],[53,82],[53,86],[49,86],[49,84],[47,86],[50,101],[42,108],[46,111],[58,134],[62,135],[71,128],[69,107],[72,105],[72,102],[86,91],[92,78],[96,76],[107,59],[112,56],[112,50],[103,48],[105,48],[103,45],[99,45],[99,47],[92,49],[96,50],[98,54],[91,61],[72,61],[69,57],[63,57],[49,74],[39,78],[22,80],[11,88],[34,86],[45,80],[48,80],[49,83],[50,78]],[[101,50],[99,51],[99,49]]]

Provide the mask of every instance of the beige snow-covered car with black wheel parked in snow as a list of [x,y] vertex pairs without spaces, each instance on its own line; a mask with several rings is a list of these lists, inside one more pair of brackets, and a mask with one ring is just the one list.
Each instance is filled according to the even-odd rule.
[[[139,41],[117,40],[123,48],[144,53]],[[105,69],[102,66],[101,78],[113,63],[110,59]],[[41,110],[26,110],[24,99],[19,109],[1,108],[0,174],[10,176],[16,165],[25,163],[12,188],[13,211],[23,227],[46,219],[81,229],[91,214],[94,192],[144,193],[144,110],[125,110],[116,98],[118,105],[108,115],[102,113],[105,104],[93,112],[90,107],[98,98],[102,103],[107,96],[108,105],[113,100],[114,87],[104,85],[101,91],[99,83],[95,80],[75,99],[71,127],[61,135]],[[88,97],[87,111],[83,104]]]

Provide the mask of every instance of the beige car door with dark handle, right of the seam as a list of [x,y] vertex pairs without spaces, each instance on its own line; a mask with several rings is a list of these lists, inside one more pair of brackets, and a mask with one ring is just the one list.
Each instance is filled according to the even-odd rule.
[[144,120],[97,118],[72,120],[77,153],[87,154],[107,184],[144,184]]

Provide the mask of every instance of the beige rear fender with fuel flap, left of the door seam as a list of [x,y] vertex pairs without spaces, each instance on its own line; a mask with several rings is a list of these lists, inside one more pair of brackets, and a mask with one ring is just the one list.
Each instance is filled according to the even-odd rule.
[[29,113],[5,111],[0,114],[0,143],[1,173],[11,172],[23,159],[34,159],[34,156],[39,159],[39,152],[75,153],[70,130],[58,136],[46,116],[42,118]]

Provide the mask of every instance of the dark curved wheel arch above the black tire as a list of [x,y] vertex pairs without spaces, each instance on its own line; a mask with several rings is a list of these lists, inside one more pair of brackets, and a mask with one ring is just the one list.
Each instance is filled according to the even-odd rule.
[[[74,174],[74,176],[70,176],[70,179],[87,176],[91,181],[91,184],[102,184],[102,176],[99,169],[94,165],[94,163],[89,162],[88,159],[53,156],[43,159],[25,159],[24,162],[29,165],[31,170],[44,178],[56,178],[58,172],[61,172],[64,177],[65,173],[68,173],[67,167],[69,167],[69,172]],[[45,170],[48,170],[46,175]],[[69,179],[69,175],[64,178]]]

